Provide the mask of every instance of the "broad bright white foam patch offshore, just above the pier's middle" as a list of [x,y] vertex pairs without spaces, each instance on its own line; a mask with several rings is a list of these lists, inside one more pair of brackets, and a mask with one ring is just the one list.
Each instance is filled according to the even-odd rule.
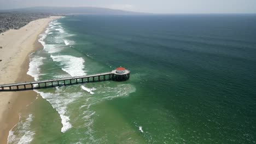
[[73,57],[68,55],[51,56],[53,61],[60,62],[62,70],[71,76],[86,75],[84,71],[84,59],[82,57]]

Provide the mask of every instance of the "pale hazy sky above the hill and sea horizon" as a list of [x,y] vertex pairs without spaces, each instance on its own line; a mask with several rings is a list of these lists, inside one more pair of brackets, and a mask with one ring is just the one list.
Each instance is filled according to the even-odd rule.
[[0,0],[0,9],[103,7],[149,13],[256,13],[256,0]]

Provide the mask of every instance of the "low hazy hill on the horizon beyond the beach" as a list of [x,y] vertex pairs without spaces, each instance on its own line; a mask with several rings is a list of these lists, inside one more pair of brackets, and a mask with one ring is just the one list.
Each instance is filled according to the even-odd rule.
[[0,12],[49,13],[49,14],[141,14],[133,11],[95,7],[31,7],[0,10]]

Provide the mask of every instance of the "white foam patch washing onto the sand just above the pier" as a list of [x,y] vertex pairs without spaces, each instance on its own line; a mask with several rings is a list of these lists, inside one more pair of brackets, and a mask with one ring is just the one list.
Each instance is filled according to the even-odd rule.
[[28,68],[27,74],[34,77],[34,80],[39,80],[40,66],[43,65],[44,57],[30,56],[30,68]]

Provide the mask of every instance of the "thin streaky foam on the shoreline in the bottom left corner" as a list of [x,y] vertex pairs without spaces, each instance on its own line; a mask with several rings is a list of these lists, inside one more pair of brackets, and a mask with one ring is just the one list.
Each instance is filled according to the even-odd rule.
[[14,126],[13,129],[9,131],[8,142],[7,143],[30,143],[33,140],[34,131],[31,131],[30,125],[33,121],[33,115],[28,115],[25,120],[19,120],[19,122]]

